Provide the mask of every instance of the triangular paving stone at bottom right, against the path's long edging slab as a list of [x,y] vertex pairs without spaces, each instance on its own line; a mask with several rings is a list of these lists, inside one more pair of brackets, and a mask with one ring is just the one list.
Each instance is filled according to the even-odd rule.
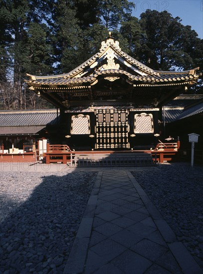
[[156,260],[156,264],[167,269],[170,273],[183,273],[171,251],[169,250]]

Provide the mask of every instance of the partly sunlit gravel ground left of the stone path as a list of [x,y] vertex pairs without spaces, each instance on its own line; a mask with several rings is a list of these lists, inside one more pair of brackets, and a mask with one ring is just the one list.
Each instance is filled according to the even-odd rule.
[[63,273],[95,172],[1,172],[0,273]]

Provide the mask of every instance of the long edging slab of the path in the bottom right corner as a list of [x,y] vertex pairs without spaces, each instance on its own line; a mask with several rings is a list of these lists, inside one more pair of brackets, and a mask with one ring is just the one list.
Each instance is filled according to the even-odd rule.
[[201,270],[192,255],[182,243],[171,243],[169,244],[169,248],[178,261],[184,274],[203,274],[203,270]]

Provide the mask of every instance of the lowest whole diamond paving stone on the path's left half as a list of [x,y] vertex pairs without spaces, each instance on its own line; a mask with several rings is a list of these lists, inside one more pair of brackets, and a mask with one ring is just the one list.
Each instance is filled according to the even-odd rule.
[[117,242],[106,239],[99,244],[91,247],[90,250],[110,262],[112,259],[123,253],[126,248]]

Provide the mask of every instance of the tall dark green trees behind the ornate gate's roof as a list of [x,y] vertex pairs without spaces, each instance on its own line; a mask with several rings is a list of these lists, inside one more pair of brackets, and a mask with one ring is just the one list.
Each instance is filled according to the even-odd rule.
[[128,0],[0,0],[3,108],[45,107],[24,87],[26,73],[71,71],[98,52],[109,30],[123,51],[155,70],[203,70],[203,40],[191,26],[167,11],[138,19],[133,7]]

